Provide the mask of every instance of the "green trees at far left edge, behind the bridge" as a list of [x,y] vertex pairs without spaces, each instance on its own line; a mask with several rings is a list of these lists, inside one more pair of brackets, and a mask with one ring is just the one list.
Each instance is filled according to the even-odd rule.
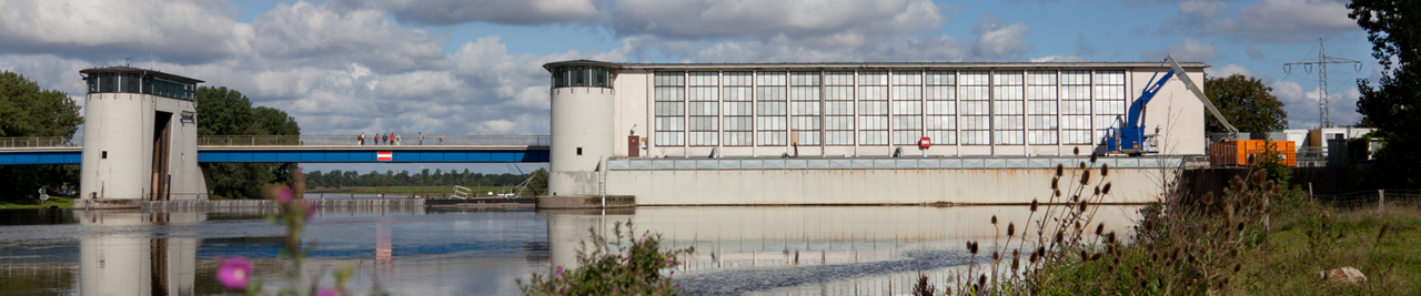
[[[84,123],[80,106],[64,92],[43,89],[20,74],[0,72],[0,136],[72,137]],[[36,188],[78,186],[80,167],[0,166],[0,198],[37,195]]]

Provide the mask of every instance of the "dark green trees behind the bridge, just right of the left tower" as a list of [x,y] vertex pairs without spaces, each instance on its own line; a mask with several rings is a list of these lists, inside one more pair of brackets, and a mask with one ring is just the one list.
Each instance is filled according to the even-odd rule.
[[[198,136],[300,136],[301,127],[286,112],[252,108],[234,89],[198,88]],[[217,198],[260,198],[267,184],[296,184],[296,163],[210,163],[207,184]]]

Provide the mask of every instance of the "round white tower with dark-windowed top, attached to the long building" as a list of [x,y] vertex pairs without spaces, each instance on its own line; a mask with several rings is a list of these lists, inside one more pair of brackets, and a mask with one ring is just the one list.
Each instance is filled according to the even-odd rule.
[[612,75],[617,64],[566,61],[553,74],[553,146],[547,187],[557,195],[600,195],[604,160],[612,156]]

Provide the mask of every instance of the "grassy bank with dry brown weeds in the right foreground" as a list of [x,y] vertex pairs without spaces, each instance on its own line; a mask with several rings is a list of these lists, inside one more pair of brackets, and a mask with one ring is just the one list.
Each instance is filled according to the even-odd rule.
[[[968,242],[965,276],[942,283],[946,293],[921,276],[917,295],[1421,295],[1417,204],[1388,204],[1380,217],[1376,205],[1313,204],[1255,170],[1231,180],[1219,197],[1167,190],[1161,203],[1140,210],[1133,238],[1117,238],[1101,231],[1088,207],[1111,187],[1107,167],[1093,164],[1094,157],[1064,173],[1059,166],[1056,193],[1030,207],[1042,220],[1007,224],[1006,244],[990,242],[1005,249],[979,252],[980,242]],[[1164,186],[1179,188],[1178,180]],[[1073,205],[1050,205],[1060,201]],[[996,217],[982,222],[1002,228]],[[1367,280],[1319,278],[1347,266]]]

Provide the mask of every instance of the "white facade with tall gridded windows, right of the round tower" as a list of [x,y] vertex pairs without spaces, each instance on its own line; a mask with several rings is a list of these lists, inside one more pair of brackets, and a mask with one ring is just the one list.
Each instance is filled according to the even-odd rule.
[[[1204,79],[1202,64],[1185,64]],[[621,65],[615,126],[641,157],[1069,156],[1098,152],[1158,64]],[[556,120],[556,119],[554,119]],[[1204,105],[1167,84],[1145,108],[1161,154],[1204,154]],[[554,133],[557,135],[557,133]],[[932,147],[918,149],[921,137]],[[628,142],[614,140],[615,157]]]

